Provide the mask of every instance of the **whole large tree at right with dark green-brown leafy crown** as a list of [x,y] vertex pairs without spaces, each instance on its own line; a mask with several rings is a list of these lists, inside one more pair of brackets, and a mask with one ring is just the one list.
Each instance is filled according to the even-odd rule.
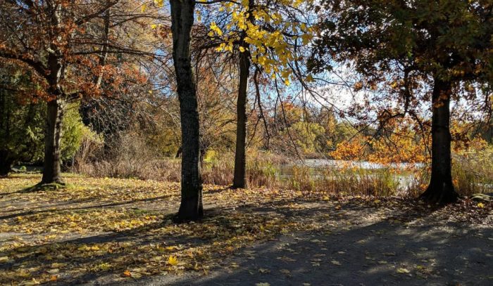
[[[451,177],[450,101],[484,96],[492,77],[491,1],[323,1],[327,14],[314,48],[311,68],[335,60],[354,63],[366,77],[358,89],[387,83],[399,91],[403,107],[383,110],[380,122],[404,117],[423,100],[432,105],[432,174],[422,197],[457,200]],[[390,79],[390,80],[389,80]],[[460,92],[463,84],[478,84]],[[420,84],[432,84],[422,92]],[[431,96],[430,96],[431,93]],[[389,98],[387,98],[388,100]]]

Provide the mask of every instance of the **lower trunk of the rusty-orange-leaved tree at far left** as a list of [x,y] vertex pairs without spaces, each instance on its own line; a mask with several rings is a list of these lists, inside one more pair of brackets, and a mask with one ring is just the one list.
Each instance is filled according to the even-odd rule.
[[46,131],[44,134],[43,178],[41,183],[63,183],[60,157],[63,108],[63,100],[54,99],[48,102]]

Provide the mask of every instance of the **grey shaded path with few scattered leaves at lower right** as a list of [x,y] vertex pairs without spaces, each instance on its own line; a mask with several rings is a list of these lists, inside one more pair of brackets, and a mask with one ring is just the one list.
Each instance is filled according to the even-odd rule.
[[282,235],[242,249],[222,266],[205,276],[163,275],[125,285],[493,285],[493,231],[363,218],[356,227]]

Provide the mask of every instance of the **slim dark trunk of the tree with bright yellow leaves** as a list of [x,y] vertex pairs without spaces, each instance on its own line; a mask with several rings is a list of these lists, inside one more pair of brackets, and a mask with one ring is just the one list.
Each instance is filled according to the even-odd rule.
[[[252,9],[254,0],[249,0],[248,21],[253,22]],[[248,91],[248,79],[250,76],[250,52],[249,44],[244,41],[246,33],[242,32],[239,45],[245,50],[239,53],[239,85],[237,100],[237,127],[236,127],[236,150],[235,150],[235,174],[232,188],[246,188],[246,94]]]

